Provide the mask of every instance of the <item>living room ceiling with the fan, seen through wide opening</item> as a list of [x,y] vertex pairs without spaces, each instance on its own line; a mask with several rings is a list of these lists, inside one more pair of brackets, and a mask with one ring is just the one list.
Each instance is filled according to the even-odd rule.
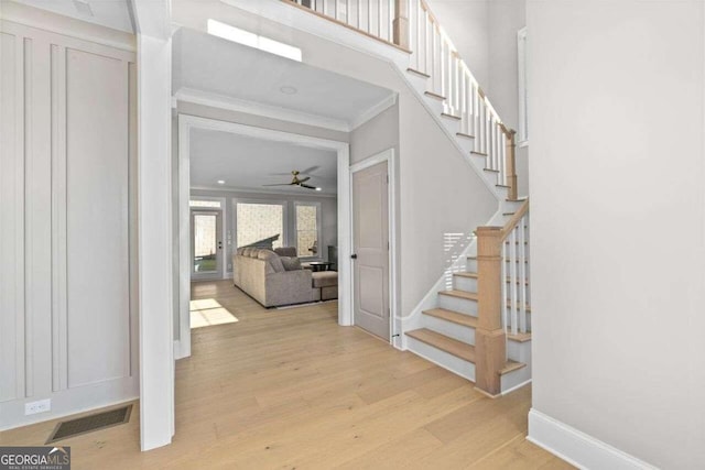
[[[223,131],[192,129],[191,186],[226,190],[302,195],[337,193],[337,155],[319,149],[273,142]],[[312,170],[313,168],[313,170]],[[310,170],[306,182],[321,192],[297,186],[263,187],[291,182],[291,171]],[[219,185],[224,179],[225,185]]]

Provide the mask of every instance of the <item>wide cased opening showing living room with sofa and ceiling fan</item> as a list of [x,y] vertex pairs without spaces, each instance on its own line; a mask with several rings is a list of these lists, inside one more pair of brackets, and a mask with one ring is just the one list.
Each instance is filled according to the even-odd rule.
[[337,152],[223,129],[188,141],[191,328],[237,321],[200,295],[213,281],[264,308],[337,299]]

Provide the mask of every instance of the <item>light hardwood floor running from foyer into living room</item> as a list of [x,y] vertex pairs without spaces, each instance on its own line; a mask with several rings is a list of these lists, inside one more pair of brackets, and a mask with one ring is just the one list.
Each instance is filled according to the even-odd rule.
[[[529,386],[487,398],[338,327],[335,302],[267,310],[229,281],[192,291],[202,319],[237,321],[193,330],[193,356],[176,364],[173,444],[140,452],[138,409],[59,442],[74,469],[572,468],[524,439]],[[55,423],[0,433],[0,445],[42,445]]]

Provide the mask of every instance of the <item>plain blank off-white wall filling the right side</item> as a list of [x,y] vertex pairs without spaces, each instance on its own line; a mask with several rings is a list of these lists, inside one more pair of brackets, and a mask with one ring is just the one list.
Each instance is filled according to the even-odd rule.
[[703,9],[527,8],[533,407],[671,469],[705,459]]

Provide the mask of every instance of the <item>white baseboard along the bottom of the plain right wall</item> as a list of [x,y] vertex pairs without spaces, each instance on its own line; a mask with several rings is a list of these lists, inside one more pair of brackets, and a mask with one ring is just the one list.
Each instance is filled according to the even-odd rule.
[[533,408],[529,412],[527,440],[581,469],[655,470],[643,460]]

